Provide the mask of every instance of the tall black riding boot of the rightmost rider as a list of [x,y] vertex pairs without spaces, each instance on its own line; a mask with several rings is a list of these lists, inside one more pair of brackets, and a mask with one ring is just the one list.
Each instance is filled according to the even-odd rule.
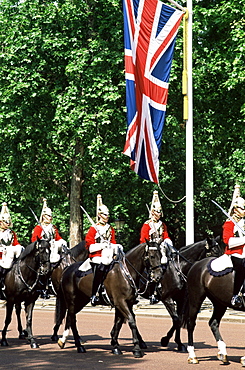
[[240,289],[243,285],[244,278],[245,278],[244,260],[242,258],[237,258],[233,256],[231,256],[231,260],[232,260],[233,268],[235,272],[231,305],[234,308],[241,308],[243,306],[243,302],[242,302],[242,297],[238,295],[238,293],[240,292]]

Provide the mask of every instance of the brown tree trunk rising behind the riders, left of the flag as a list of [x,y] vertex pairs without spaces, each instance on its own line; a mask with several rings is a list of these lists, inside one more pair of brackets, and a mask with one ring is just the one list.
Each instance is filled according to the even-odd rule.
[[73,160],[73,170],[71,179],[70,194],[70,248],[82,241],[83,222],[81,217],[80,204],[82,201],[83,170],[81,158],[83,157],[84,147],[78,140],[75,147]]

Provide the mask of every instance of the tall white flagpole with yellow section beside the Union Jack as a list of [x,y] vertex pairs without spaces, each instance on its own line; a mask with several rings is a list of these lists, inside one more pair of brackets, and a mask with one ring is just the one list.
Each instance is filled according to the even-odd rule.
[[186,119],[186,245],[194,243],[194,176],[193,176],[193,85],[192,85],[192,0],[187,0],[186,77],[184,96]]

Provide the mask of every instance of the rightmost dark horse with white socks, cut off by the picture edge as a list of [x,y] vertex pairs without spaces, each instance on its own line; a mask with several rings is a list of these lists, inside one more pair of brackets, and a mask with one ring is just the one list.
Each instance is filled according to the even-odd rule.
[[[230,302],[233,295],[234,272],[230,272],[223,276],[213,276],[209,272],[210,268],[208,268],[208,264],[211,260],[211,258],[208,258],[195,263],[188,274],[188,363],[191,364],[198,363],[193,344],[193,332],[196,325],[197,314],[206,297],[213,303],[213,314],[209,320],[209,326],[218,344],[217,357],[224,364],[229,363],[226,344],[220,334],[219,326],[227,307],[231,307]],[[245,307],[240,310],[245,311]],[[241,363],[245,366],[245,357],[241,358]]]

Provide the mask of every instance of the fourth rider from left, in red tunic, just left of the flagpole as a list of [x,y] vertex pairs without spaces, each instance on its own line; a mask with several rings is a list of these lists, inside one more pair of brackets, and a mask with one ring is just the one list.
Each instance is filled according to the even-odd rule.
[[[149,212],[149,220],[147,220],[140,232],[140,243],[145,243],[146,240],[153,241],[156,243],[160,243],[161,248],[161,263],[163,266],[163,273],[167,269],[167,263],[168,263],[168,257],[167,255],[170,252],[174,252],[173,242],[170,239],[168,235],[168,229],[164,222],[160,220],[162,217],[162,206],[159,200],[158,191],[155,190],[153,192],[152,202],[151,202],[151,209]],[[158,303],[159,300],[157,298],[157,292],[156,292],[156,284],[151,287],[150,292],[150,303],[155,304]]]

